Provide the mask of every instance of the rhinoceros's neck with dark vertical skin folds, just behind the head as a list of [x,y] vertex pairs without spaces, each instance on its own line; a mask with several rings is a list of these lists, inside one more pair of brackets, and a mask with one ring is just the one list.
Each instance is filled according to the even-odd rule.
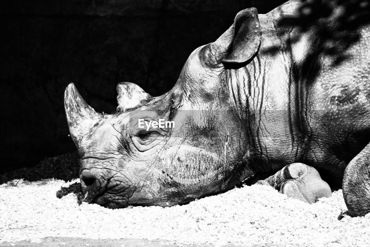
[[262,164],[255,170],[273,171],[305,159],[310,89],[293,82],[288,60],[283,53],[273,59],[256,56],[245,67],[226,71],[231,102],[246,128],[250,164]]

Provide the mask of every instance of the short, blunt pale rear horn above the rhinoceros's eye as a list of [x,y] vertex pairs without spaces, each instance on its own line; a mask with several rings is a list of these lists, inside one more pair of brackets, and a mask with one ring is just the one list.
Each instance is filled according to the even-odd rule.
[[153,98],[135,83],[120,82],[117,85],[117,110],[137,108],[144,101]]

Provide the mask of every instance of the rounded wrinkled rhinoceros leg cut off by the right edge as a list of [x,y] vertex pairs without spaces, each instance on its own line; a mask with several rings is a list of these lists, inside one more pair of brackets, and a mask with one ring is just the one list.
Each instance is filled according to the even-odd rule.
[[343,197],[350,215],[363,216],[370,212],[370,143],[347,165]]

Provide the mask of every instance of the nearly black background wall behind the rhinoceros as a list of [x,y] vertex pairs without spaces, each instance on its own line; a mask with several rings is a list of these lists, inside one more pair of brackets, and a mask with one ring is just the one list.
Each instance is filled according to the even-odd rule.
[[188,55],[217,39],[238,11],[267,0],[1,1],[0,174],[74,151],[63,93],[74,82],[98,112],[118,82],[153,96],[172,88]]

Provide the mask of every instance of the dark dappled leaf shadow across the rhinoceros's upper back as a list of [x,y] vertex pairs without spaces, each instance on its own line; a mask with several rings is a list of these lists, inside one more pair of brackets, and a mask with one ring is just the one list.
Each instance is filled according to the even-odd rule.
[[[320,57],[329,57],[332,65],[339,65],[350,57],[347,50],[360,39],[361,27],[370,23],[369,0],[301,0],[295,13],[286,14],[280,9],[282,18],[276,27],[282,41],[292,46],[303,35],[313,37],[309,53],[293,65],[296,79],[312,82],[320,70]],[[276,11],[279,11],[276,10]],[[287,30],[295,28],[290,35]],[[285,40],[284,40],[285,39]],[[279,47],[271,47],[275,52]],[[298,78],[300,77],[300,78]]]

